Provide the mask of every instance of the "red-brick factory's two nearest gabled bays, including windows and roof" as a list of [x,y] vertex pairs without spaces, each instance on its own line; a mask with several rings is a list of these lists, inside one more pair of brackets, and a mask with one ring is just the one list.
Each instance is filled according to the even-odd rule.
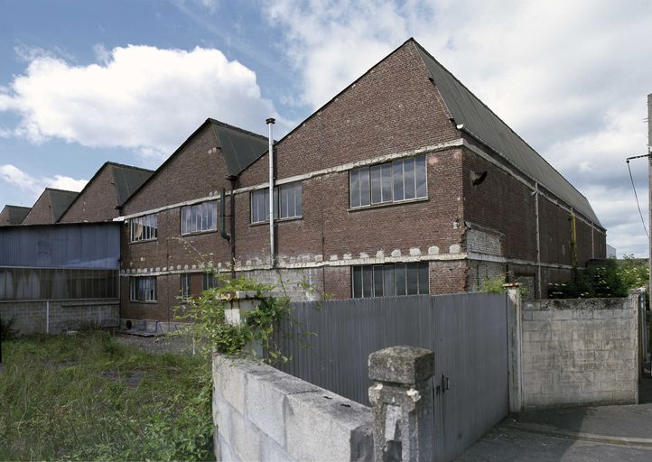
[[545,297],[606,254],[587,199],[413,39],[275,143],[273,258],[266,151],[209,119],[126,200],[123,318],[171,319],[213,283],[208,261],[294,299],[474,291],[503,273]]

